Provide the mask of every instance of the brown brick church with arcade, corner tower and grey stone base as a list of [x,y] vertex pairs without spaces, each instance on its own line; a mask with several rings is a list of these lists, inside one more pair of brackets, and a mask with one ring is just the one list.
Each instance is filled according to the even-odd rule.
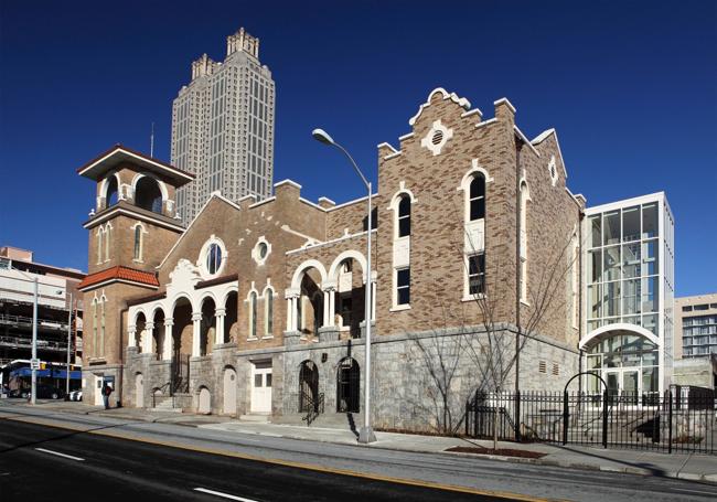
[[[505,98],[484,118],[431,92],[396,147],[377,147],[371,229],[365,197],[311,202],[289,180],[260,202],[215,192],[183,228],[175,193],[191,174],[121,146],[79,168],[97,183],[85,400],[109,382],[124,406],[275,421],[319,400],[360,412],[366,318],[376,427],[439,426],[446,385],[457,416],[478,388],[514,388],[515,364],[489,377],[479,360],[513,361],[518,328],[520,388],[561,389],[579,371],[585,200],[555,130],[529,140],[515,115]],[[496,333],[505,346],[486,351]],[[448,359],[450,378],[431,367]]]

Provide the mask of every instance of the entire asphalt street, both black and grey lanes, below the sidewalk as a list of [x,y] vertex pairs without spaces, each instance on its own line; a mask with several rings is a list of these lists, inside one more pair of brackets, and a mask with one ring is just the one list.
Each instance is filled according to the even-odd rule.
[[[501,494],[502,500],[511,494],[521,494],[523,500],[600,502],[717,500],[715,484],[656,476],[567,470],[47,410],[2,407],[1,412],[0,494],[12,495],[7,500],[39,500],[43,494],[51,500],[114,500],[135,493],[139,500],[216,501],[494,500],[491,494]],[[9,418],[50,420],[83,431]],[[216,450],[222,455],[207,452]],[[339,470],[352,476],[338,474]],[[398,480],[420,480],[424,485]],[[464,487],[478,494],[427,484]]]

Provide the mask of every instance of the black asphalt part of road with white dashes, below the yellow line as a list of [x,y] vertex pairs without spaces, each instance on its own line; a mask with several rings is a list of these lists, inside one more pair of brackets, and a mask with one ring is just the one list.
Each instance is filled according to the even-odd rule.
[[[217,500],[204,489],[256,501],[322,500],[505,500],[402,483],[303,470],[254,460],[237,459],[168,448],[126,439],[75,434],[50,435],[47,427],[3,424],[13,436],[26,438],[26,446],[0,455],[3,493],[38,496],[36,480],[53,487],[52,493],[74,496],[132,496],[151,494],[160,500]],[[51,444],[51,445],[50,445]],[[82,458],[56,457],[36,448]],[[34,480],[34,483],[32,482]],[[6,491],[7,490],[7,491]],[[31,499],[32,500],[32,499]]]

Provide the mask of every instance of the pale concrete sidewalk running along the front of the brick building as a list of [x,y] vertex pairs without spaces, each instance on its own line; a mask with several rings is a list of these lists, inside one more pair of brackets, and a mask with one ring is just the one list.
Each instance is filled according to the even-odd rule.
[[[28,404],[13,403],[19,407]],[[84,403],[46,402],[39,403],[34,409],[42,408],[54,413],[97,415],[137,421],[164,423],[221,430],[226,434],[248,434],[257,436],[282,437],[308,441],[322,441],[356,446],[356,434],[346,428],[321,428],[298,425],[264,424],[239,421],[229,417],[215,415],[196,415],[188,413],[150,412],[138,408],[104,409]],[[526,450],[544,453],[539,459],[503,457],[494,455],[457,453],[446,451],[452,447],[492,448],[490,440],[450,438],[440,436],[420,436],[409,434],[376,432],[376,442],[367,448],[383,448],[398,451],[443,453],[465,457],[482,457],[494,460],[534,463],[572,469],[589,469],[630,474],[659,476],[693,481],[717,483],[717,456],[696,453],[661,453],[644,450],[616,448],[588,448],[547,444],[516,444],[499,441],[499,448]]]

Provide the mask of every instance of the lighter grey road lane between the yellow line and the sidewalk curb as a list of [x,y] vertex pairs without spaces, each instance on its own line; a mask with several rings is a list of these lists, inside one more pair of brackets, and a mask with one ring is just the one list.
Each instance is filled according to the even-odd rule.
[[[73,426],[101,427],[111,430],[113,424],[122,434],[141,434],[150,440],[167,441],[189,448],[221,449],[238,455],[299,461],[332,469],[345,469],[421,479],[438,483],[473,487],[483,491],[529,493],[534,496],[591,501],[600,493],[604,501],[642,500],[670,501],[685,496],[717,496],[714,484],[667,478],[601,472],[595,470],[566,470],[559,467],[531,466],[501,462],[480,458],[450,455],[411,453],[376,448],[351,447],[315,441],[256,435],[221,434],[204,428],[190,428],[167,424],[108,423],[100,417],[67,416]],[[103,434],[104,431],[99,431]],[[179,439],[179,440],[178,440]]]

